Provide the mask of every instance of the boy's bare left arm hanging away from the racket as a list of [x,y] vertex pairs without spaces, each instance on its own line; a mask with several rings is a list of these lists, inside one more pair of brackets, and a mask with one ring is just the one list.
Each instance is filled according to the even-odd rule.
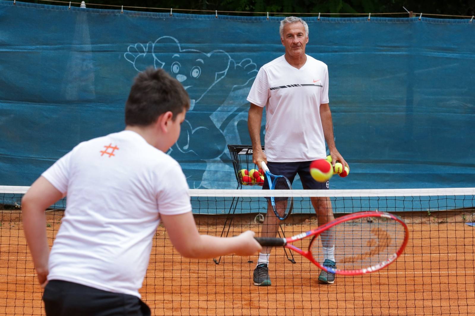
[[21,200],[23,230],[35,263],[39,283],[43,287],[46,285],[48,275],[49,256],[45,210],[62,197],[63,194],[46,178],[39,177]]

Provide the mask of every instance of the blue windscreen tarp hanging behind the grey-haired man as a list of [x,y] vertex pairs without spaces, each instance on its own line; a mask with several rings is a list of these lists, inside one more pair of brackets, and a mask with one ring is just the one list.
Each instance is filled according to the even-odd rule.
[[[169,152],[190,188],[236,188],[227,144],[250,144],[246,97],[284,54],[281,19],[0,0],[0,185],[29,186],[79,142],[122,130],[133,78],[152,66],[190,95]],[[475,23],[304,19],[351,167],[332,189],[475,186]]]

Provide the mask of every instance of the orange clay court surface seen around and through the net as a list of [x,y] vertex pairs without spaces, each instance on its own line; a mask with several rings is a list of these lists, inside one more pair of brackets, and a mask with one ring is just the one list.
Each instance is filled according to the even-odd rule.
[[[0,214],[0,315],[45,315],[21,214]],[[62,214],[48,212],[50,242]],[[464,223],[471,214],[399,213],[411,234],[404,254],[389,268],[339,276],[333,285],[319,285],[317,267],[298,254],[293,264],[277,249],[270,259],[273,285],[256,287],[257,256],[226,256],[219,264],[185,259],[159,227],[142,299],[152,315],[475,315],[474,228]],[[224,218],[200,215],[196,220],[200,232],[220,235]],[[291,236],[315,226],[314,217],[295,216],[282,227]],[[249,228],[259,231],[254,215],[239,216],[229,234]]]

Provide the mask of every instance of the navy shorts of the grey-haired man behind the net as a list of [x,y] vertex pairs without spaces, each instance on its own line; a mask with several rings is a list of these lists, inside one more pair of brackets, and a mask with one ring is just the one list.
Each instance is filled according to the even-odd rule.
[[[330,182],[318,182],[310,175],[310,163],[312,161],[299,162],[267,162],[267,167],[270,173],[276,176],[285,176],[290,183],[294,183],[295,176],[298,174],[302,181],[304,190],[327,190],[330,187]],[[269,189],[267,179],[264,180],[263,190]]]

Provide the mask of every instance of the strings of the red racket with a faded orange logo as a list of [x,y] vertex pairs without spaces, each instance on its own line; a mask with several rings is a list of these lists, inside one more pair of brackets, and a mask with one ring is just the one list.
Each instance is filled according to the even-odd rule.
[[395,254],[404,242],[404,227],[383,217],[357,219],[339,223],[322,232],[310,246],[318,262],[323,262],[334,244],[338,270],[359,270],[384,262]]

